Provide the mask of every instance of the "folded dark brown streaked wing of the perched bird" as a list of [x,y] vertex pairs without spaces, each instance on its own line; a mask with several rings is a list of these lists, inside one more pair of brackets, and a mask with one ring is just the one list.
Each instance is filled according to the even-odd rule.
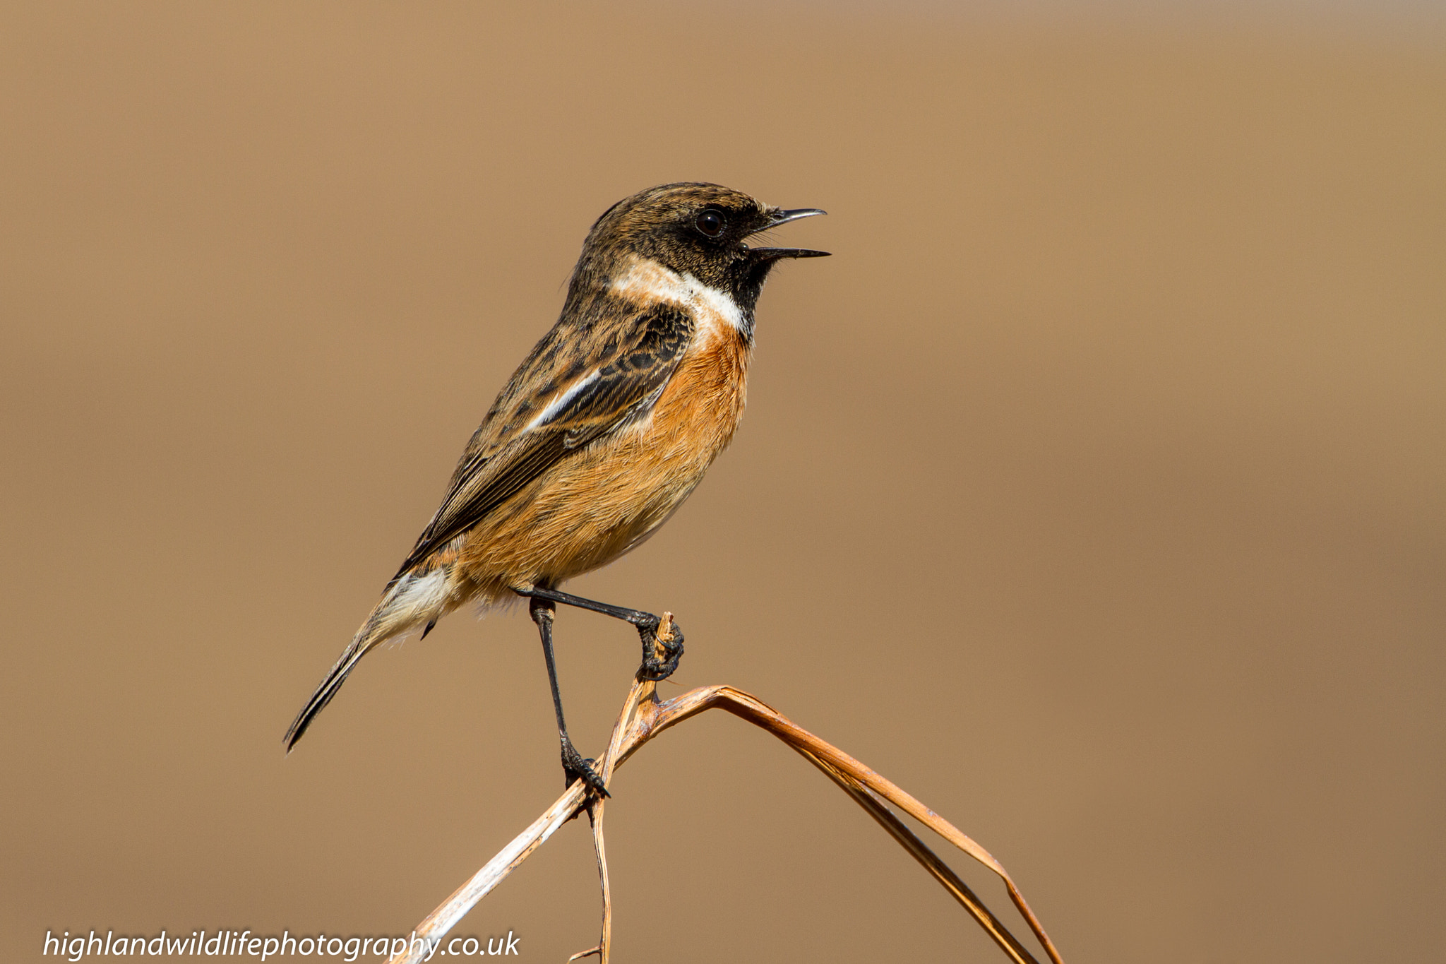
[[[402,568],[408,569],[487,517],[528,483],[589,442],[646,413],[658,400],[693,337],[693,318],[674,305],[648,305],[622,327],[617,350],[599,358],[597,377],[578,389],[547,421],[518,432],[490,455],[467,460],[451,490]],[[573,382],[586,382],[591,370]],[[570,386],[571,387],[571,386]],[[567,389],[558,393],[567,395]],[[545,410],[545,409],[544,409]]]

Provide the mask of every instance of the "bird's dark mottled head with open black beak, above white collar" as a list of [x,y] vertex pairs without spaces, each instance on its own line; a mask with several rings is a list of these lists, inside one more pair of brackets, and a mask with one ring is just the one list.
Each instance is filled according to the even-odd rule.
[[823,214],[772,208],[716,184],[664,184],[623,198],[597,218],[583,244],[573,288],[606,285],[633,257],[729,292],[752,309],[769,269],[785,257],[823,257],[798,247],[749,247],[759,231]]

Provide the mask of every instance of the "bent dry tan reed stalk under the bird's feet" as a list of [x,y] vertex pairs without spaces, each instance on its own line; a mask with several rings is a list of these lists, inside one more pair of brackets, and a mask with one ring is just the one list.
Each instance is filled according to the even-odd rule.
[[[665,613],[659,636],[671,639],[672,614]],[[1024,895],[1004,866],[995,860],[989,851],[960,832],[947,819],[924,806],[910,793],[895,786],[886,778],[855,760],[852,756],[837,749],[831,743],[820,740],[803,727],[795,726],[781,713],[765,704],[758,697],[735,689],[733,687],[698,687],[672,700],[659,702],[655,694],[655,684],[636,679],[628,692],[617,723],[613,726],[613,736],[607,746],[607,753],[599,766],[599,776],[607,785],[613,770],[622,766],[628,757],[636,753],[648,740],[674,727],[684,720],[706,710],[726,710],[733,715],[768,730],[775,737],[798,752],[805,760],[823,770],[829,779],[847,792],[855,802],[862,806],[884,830],[894,837],[904,850],[910,853],[985,929],[985,932],[999,945],[999,948],[1015,964],[1038,964],[1032,954],[1005,928],[1005,925],[983,905],[973,890],[924,844],[888,806],[894,804],[905,814],[924,824],[950,844],[964,851],[1004,880],[1009,892],[1009,899],[1018,908],[1028,924],[1030,931],[1040,941],[1044,952],[1053,964],[1064,964],[1058,950],[1044,932],[1044,925],[1030,909]],[[416,937],[440,939],[461,921],[487,893],[512,873],[528,856],[542,845],[558,827],[577,817],[584,809],[589,812],[593,825],[593,844],[597,850],[597,872],[603,887],[603,928],[597,947],[574,954],[570,960],[578,960],[596,954],[602,964],[607,964],[612,944],[612,892],[607,883],[607,851],[603,841],[603,808],[604,801],[589,799],[583,783],[574,782],[532,825],[518,834],[516,838],[483,866],[467,883],[458,887],[435,911],[427,915],[416,925]],[[414,951],[409,945],[403,954],[390,960],[389,964],[415,964],[425,957],[425,952]]]

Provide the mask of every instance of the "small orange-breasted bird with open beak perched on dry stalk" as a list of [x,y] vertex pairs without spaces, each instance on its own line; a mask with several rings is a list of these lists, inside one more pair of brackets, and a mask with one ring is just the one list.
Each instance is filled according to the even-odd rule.
[[562,314],[473,434],[441,507],[286,731],[288,752],[377,645],[464,603],[516,597],[542,639],[568,782],[606,789],[573,747],[552,656],[554,606],[632,623],[641,673],[668,676],[683,634],[659,640],[651,613],[560,591],[651,536],[733,438],[743,416],[753,309],[782,259],[827,251],[748,238],[824,214],[781,210],[716,184],[665,184],[593,224]]

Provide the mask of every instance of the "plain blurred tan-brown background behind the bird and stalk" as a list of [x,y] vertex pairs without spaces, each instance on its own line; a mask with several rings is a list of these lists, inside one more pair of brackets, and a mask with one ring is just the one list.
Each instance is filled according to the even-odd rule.
[[[675,179],[827,208],[787,238],[834,257],[771,282],[691,503],[573,588],[674,610],[678,684],[975,835],[1071,964],[1434,957],[1443,38],[1366,4],[7,4],[0,957],[406,932],[560,792],[522,611],[281,734],[593,218]],[[564,611],[560,659],[597,753],[636,639]],[[730,717],[615,792],[619,960],[1004,960]],[[560,961],[597,921],[570,824],[457,932]]]

